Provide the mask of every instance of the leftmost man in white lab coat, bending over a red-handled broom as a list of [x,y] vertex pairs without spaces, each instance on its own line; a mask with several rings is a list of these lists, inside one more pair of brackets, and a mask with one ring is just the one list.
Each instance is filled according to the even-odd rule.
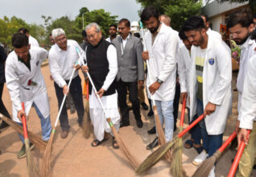
[[[6,86],[12,101],[13,119],[22,125],[22,117],[28,115],[33,104],[41,121],[42,139],[47,141],[52,126],[47,89],[41,72],[41,64],[47,58],[47,51],[41,47],[31,47],[27,36],[21,33],[13,35],[12,45],[14,51],[6,60]],[[25,110],[22,109],[22,102]],[[23,141],[22,135],[20,138]],[[23,158],[25,155],[23,144],[18,158]]]

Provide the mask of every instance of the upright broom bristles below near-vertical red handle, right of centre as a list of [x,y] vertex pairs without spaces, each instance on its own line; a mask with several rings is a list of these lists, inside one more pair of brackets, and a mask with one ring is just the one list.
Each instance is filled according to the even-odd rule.
[[[182,132],[182,127],[180,127],[180,132]],[[171,163],[171,174],[174,177],[186,177],[186,172],[182,167],[182,148],[183,148],[183,141],[180,138],[177,142],[175,142],[173,153],[174,153],[174,161]]]

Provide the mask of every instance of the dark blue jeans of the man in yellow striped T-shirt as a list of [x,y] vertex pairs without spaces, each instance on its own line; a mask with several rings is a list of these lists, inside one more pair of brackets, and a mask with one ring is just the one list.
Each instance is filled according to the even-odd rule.
[[[196,112],[198,115],[204,113],[203,102],[200,101],[198,98]],[[209,157],[211,157],[216,152],[216,150],[218,150],[221,147],[223,134],[209,135],[206,130],[204,119],[200,121],[199,124],[203,138],[203,149],[209,154]]]

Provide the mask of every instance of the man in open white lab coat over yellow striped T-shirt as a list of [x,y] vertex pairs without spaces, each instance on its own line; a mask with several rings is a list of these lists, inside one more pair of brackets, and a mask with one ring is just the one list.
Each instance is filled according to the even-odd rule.
[[[193,164],[199,165],[222,144],[232,106],[231,51],[224,42],[207,35],[200,17],[189,18],[183,27],[193,44],[189,78],[190,117],[196,113],[205,115],[200,121],[204,150],[193,161]],[[215,176],[214,167],[210,176]]]

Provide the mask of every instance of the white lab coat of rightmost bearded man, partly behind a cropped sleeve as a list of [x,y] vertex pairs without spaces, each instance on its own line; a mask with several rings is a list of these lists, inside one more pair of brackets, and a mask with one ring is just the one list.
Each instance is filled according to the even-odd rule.
[[238,117],[237,119],[240,120],[240,108],[241,108],[241,101],[242,101],[242,92],[244,88],[244,81],[246,76],[247,64],[250,58],[256,55],[256,48],[255,40],[248,38],[245,43],[241,46],[241,56],[239,62],[239,72],[237,76],[237,91],[238,91],[238,104],[237,104],[237,111]]

